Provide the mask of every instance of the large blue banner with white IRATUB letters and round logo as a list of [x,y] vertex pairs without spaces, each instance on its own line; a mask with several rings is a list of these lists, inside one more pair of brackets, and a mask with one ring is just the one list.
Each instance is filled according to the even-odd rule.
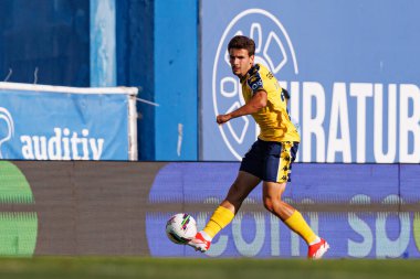
[[227,51],[243,34],[291,93],[298,161],[419,163],[419,9],[414,0],[202,0],[200,159],[241,160],[259,133],[250,116],[216,125],[244,104]]

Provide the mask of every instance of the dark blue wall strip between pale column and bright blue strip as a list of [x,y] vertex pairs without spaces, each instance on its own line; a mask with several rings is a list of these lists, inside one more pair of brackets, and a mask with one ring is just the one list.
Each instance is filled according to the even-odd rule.
[[[154,101],[154,3],[116,3],[117,84],[139,86],[138,97]],[[155,159],[155,107],[137,103],[138,159]]]

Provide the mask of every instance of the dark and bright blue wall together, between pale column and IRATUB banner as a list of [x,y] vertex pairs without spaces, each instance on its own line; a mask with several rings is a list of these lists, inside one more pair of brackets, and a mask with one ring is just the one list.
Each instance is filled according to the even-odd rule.
[[197,160],[198,2],[129,0],[116,12],[117,83],[159,104],[138,103],[139,160]]

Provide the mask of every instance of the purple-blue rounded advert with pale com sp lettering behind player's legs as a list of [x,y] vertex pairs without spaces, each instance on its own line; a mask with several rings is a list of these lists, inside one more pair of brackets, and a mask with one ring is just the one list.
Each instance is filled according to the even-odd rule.
[[[234,181],[239,163],[169,163],[157,174],[146,215],[151,256],[306,257],[306,244],[262,205],[256,186],[206,254],[175,245],[165,225],[179,204],[202,229]],[[420,258],[418,164],[294,164],[284,200],[296,204],[314,232],[330,245],[328,258]],[[325,206],[329,204],[332,207]],[[308,211],[305,206],[324,206]],[[316,208],[316,207],[313,207]]]

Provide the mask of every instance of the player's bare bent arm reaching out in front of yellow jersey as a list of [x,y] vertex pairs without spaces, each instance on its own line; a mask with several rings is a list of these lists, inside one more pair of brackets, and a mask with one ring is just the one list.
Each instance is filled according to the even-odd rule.
[[255,114],[256,111],[259,111],[260,109],[266,106],[266,99],[267,99],[266,92],[264,89],[260,89],[256,93],[254,93],[254,95],[252,96],[249,103],[233,110],[232,112],[229,112],[227,115],[219,115],[216,118],[216,121],[218,124],[224,124],[237,117]]

